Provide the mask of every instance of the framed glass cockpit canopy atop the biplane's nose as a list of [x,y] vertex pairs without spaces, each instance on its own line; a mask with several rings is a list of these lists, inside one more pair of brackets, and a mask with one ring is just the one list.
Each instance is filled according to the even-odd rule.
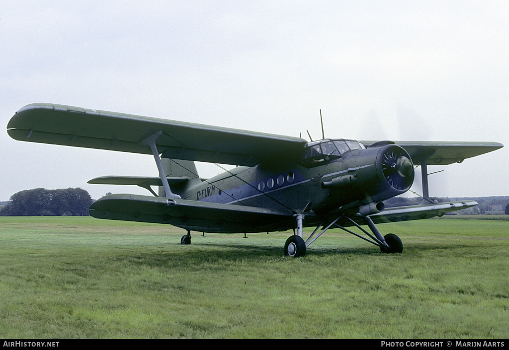
[[309,142],[304,147],[302,162],[306,166],[315,165],[341,157],[350,150],[361,150],[364,146],[354,140],[321,140]]

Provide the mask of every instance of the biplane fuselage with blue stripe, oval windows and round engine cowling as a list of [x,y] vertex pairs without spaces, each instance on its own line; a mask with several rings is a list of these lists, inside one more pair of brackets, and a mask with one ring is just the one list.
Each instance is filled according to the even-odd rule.
[[[402,186],[390,183],[390,176],[401,178],[402,166],[396,163],[402,157],[409,160],[403,149],[390,144],[349,150],[340,156],[322,152],[314,159],[269,160],[190,183],[177,193],[182,199],[302,212],[307,217],[334,215],[341,207],[357,211],[407,191],[413,166],[407,169],[409,180]],[[315,223],[306,219],[306,225]]]

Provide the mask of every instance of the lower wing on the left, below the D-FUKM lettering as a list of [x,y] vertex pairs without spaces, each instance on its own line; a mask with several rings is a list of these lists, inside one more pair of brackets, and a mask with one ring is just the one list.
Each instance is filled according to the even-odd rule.
[[154,222],[217,233],[286,230],[295,222],[290,212],[134,194],[102,197],[92,203],[89,212],[98,219]]

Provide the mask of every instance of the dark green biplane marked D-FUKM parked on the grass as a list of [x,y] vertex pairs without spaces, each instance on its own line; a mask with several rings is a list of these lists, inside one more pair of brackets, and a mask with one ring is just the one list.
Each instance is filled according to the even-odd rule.
[[[152,154],[159,177],[107,176],[92,184],[137,185],[153,195],[112,194],[90,206],[100,219],[171,224],[187,230],[248,233],[294,230],[285,254],[302,256],[329,228],[341,228],[380,247],[402,252],[398,236],[375,224],[442,216],[475,206],[472,200],[429,198],[428,165],[461,163],[503,147],[497,142],[356,141],[300,137],[178,122],[47,103],[21,108],[9,121],[21,141]],[[237,165],[202,179],[194,162]],[[421,166],[421,205],[385,209],[405,193]],[[158,186],[156,193],[151,186]],[[369,230],[362,226],[366,225]],[[302,228],[316,227],[307,241]],[[357,227],[367,236],[347,227]]]

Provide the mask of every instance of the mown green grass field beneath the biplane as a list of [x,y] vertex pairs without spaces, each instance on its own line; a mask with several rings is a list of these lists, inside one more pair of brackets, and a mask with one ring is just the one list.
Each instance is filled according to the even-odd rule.
[[[214,235],[91,217],[0,217],[0,338],[509,337],[509,221],[379,225],[403,254],[329,231]],[[307,237],[307,236],[306,236]]]

